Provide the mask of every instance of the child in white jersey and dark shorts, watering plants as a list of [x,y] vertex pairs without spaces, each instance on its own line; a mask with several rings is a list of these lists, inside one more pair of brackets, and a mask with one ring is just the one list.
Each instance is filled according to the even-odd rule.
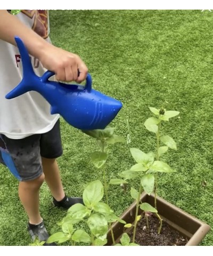
[[10,10],[0,10],[0,162],[20,181],[19,197],[33,241],[36,237],[46,241],[49,236],[39,212],[39,189],[44,180],[55,206],[69,209],[83,203],[81,198],[67,197],[62,187],[56,162],[62,155],[59,115],[50,114],[49,103],[37,92],[5,99],[22,79],[14,36],[26,45],[37,75],[48,69],[59,81],[80,83],[86,78],[88,69],[79,56],[53,46],[48,34],[48,11],[22,10],[12,15]]

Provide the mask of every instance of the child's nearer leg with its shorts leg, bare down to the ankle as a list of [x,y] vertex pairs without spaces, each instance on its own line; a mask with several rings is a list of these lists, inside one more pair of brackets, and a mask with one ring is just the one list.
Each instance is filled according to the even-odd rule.
[[19,179],[19,197],[26,210],[29,222],[42,221],[39,213],[39,189],[44,181],[42,158],[40,157],[40,134],[23,139],[0,137],[2,161]]

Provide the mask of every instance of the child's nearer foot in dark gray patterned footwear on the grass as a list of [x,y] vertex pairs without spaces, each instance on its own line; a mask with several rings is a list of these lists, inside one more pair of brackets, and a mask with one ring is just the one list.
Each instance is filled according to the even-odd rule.
[[[50,236],[44,226],[43,221],[37,225],[33,225],[28,222],[27,228],[28,228],[28,231],[30,233],[30,236],[31,236],[33,242],[35,241],[36,238],[39,240],[39,242],[47,241],[47,239]],[[50,244],[44,243],[43,245],[55,246],[56,244],[55,243],[50,243]]]

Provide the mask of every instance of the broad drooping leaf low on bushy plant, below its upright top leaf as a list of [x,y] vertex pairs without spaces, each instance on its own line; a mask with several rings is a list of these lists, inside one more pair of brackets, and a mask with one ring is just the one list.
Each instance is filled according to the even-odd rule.
[[105,216],[101,213],[92,214],[88,220],[87,224],[92,234],[100,239],[105,239],[108,232],[108,221]]

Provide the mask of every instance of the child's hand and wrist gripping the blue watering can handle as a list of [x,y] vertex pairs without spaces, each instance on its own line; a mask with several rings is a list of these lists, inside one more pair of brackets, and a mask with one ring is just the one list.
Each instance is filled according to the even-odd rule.
[[80,83],[86,79],[88,68],[83,60],[74,53],[48,44],[39,52],[38,59],[46,69],[55,73],[58,81]]

